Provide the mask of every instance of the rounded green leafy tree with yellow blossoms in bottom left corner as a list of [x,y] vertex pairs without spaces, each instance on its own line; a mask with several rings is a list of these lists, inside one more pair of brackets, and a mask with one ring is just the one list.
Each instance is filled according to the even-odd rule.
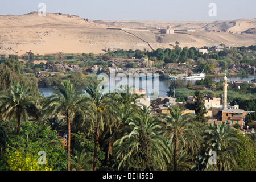
[[[61,171],[67,167],[67,153],[57,139],[56,131],[50,130],[44,123],[22,123],[19,135],[11,129],[8,134],[9,142],[4,156],[9,169]],[[38,164],[39,151],[45,152],[46,164]]]

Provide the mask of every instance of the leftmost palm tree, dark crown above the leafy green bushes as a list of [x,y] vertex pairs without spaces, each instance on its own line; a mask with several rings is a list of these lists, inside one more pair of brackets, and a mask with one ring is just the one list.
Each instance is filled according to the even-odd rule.
[[19,134],[22,119],[27,121],[28,116],[38,119],[40,115],[28,88],[23,88],[20,84],[11,86],[10,94],[0,96],[0,110],[5,119],[17,119],[17,134]]

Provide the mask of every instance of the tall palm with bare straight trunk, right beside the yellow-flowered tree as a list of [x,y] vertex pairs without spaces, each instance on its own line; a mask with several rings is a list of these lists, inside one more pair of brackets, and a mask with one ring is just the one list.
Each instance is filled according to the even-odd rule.
[[[70,134],[71,134],[71,118],[74,113],[81,111],[83,105],[86,105],[86,96],[83,92],[77,92],[77,85],[70,80],[61,81],[63,88],[54,87],[56,90],[53,95],[44,103],[43,110],[48,115],[60,113],[67,119],[67,153],[70,157]],[[68,171],[70,170],[70,162],[68,160]]]

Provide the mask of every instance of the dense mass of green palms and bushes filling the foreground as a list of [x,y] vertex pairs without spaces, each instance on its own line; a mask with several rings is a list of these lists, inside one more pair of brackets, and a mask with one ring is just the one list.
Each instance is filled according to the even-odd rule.
[[[81,95],[72,82],[62,84],[52,97],[35,97],[40,117],[27,113],[18,134],[15,115],[2,118],[1,170],[66,170],[68,161],[70,170],[255,170],[255,137],[230,125],[208,125],[182,115],[177,105],[170,114],[152,115],[136,104],[143,95],[103,96],[97,84]],[[67,132],[71,139],[65,145],[58,136]],[[38,163],[40,151],[46,164]],[[209,163],[212,151],[216,164]]]

